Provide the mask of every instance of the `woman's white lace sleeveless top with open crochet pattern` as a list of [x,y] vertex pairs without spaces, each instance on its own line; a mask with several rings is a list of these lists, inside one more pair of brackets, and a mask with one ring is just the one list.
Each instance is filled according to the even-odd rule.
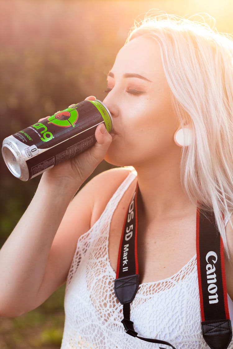
[[[65,293],[61,349],[156,349],[125,333],[122,305],[114,294],[116,273],[108,255],[111,217],[136,173],[131,172],[108,202],[99,220],[77,244]],[[118,249],[118,246],[116,246]],[[228,296],[233,320],[233,303]],[[202,337],[196,255],[171,277],[139,285],[131,303],[138,335],[168,341],[177,349],[209,348]],[[228,349],[233,348],[233,340]]]

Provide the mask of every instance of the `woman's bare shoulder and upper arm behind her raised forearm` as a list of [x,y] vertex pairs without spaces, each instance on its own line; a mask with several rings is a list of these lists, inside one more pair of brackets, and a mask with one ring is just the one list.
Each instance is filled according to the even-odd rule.
[[[124,168],[102,172],[90,180],[74,197],[50,249],[49,263],[38,292],[39,304],[66,281],[78,238],[100,218],[108,201],[129,172],[129,169]],[[54,278],[54,275],[59,275],[59,279]]]

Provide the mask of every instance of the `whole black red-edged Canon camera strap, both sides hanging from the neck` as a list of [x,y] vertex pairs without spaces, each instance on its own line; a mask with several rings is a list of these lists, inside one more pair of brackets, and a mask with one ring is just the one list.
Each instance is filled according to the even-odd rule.
[[[138,184],[125,216],[114,282],[115,295],[123,304],[121,322],[125,332],[133,337],[147,342],[166,344],[176,349],[166,341],[138,336],[130,320],[130,303],[139,287],[137,196]],[[208,215],[206,213],[204,215],[197,208],[196,249],[202,335],[211,349],[227,349],[232,339],[232,328],[227,303],[224,247],[214,214],[208,213]]]

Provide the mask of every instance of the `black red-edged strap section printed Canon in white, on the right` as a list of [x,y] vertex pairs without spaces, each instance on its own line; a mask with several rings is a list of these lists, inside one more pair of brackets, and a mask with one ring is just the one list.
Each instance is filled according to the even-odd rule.
[[202,335],[212,349],[228,348],[232,339],[228,311],[224,246],[214,213],[197,209],[197,274],[202,317]]

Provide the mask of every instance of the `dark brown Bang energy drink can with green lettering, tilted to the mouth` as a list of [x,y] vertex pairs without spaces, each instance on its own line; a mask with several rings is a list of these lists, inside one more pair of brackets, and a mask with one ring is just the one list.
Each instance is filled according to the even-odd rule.
[[10,172],[28,180],[93,146],[95,130],[112,118],[102,102],[82,101],[5,138],[2,156]]

